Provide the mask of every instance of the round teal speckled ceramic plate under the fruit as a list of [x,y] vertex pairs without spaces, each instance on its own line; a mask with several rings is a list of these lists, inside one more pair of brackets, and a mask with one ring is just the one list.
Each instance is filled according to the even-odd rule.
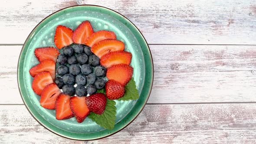
[[[32,88],[33,78],[29,69],[38,63],[34,50],[38,47],[55,46],[53,37],[57,25],[75,29],[82,21],[89,20],[94,31],[115,32],[117,39],[125,43],[125,50],[132,53],[133,77],[139,91],[138,100],[116,101],[116,121],[112,130],[104,129],[91,119],[77,123],[75,118],[56,120],[55,110],[40,106],[40,97]],[[75,140],[94,140],[110,136],[125,128],[142,111],[153,84],[153,61],[148,44],[137,27],[121,14],[105,7],[80,5],[68,7],[51,14],[30,33],[20,52],[18,62],[18,85],[24,104],[30,114],[46,129],[62,137]]]

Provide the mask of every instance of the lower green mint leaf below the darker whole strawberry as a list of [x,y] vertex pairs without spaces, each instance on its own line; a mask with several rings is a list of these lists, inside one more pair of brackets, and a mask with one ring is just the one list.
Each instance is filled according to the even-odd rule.
[[115,101],[107,98],[107,104],[103,114],[98,115],[91,112],[88,117],[91,118],[92,121],[95,121],[96,124],[102,126],[103,128],[113,129],[115,126],[115,114],[116,114]]

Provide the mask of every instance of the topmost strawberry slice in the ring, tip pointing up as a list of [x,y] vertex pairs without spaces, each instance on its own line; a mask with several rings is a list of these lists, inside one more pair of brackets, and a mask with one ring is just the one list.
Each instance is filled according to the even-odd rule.
[[74,43],[84,44],[85,40],[94,33],[91,23],[83,21],[74,31],[72,40]]

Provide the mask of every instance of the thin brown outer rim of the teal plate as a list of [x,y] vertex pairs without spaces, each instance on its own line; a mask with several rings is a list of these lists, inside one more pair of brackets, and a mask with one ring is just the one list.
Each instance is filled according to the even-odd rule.
[[[24,100],[23,98],[23,94],[21,92],[21,88],[20,88],[20,76],[19,76],[19,65],[20,65],[20,58],[21,58],[21,55],[22,55],[22,52],[23,52],[23,49],[27,43],[27,41],[29,40],[30,37],[33,36],[33,33],[35,31],[35,29],[38,28],[38,26],[46,19],[48,19],[50,16],[60,12],[60,11],[63,11],[65,9],[69,9],[69,8],[72,8],[72,7],[99,7],[99,8],[103,8],[103,9],[107,9],[107,10],[110,10],[116,14],[118,14],[119,16],[123,17],[125,20],[127,20],[128,22],[130,22],[132,24],[132,26],[135,27],[136,30],[138,30],[139,34],[141,35],[141,37],[143,38],[143,41],[145,42],[146,46],[147,46],[147,49],[148,49],[148,52],[149,52],[149,58],[150,58],[150,63],[151,63],[151,81],[150,81],[150,87],[149,87],[149,91],[148,91],[148,95],[147,95],[147,98],[145,99],[144,101],[144,104],[142,105],[141,109],[137,112],[137,114],[135,115],[134,118],[132,118],[127,124],[125,124],[124,126],[122,126],[121,128],[119,128],[119,130],[115,131],[115,132],[112,132],[110,134],[106,134],[104,136],[100,136],[100,137],[97,137],[97,138],[92,138],[92,139],[88,139],[88,138],[81,138],[81,139],[78,139],[78,138],[73,138],[73,137],[69,137],[69,136],[66,136],[65,134],[60,134],[54,130],[51,130],[50,128],[48,128],[48,126],[46,126],[45,124],[43,124],[43,122],[41,122],[39,119],[36,118],[36,116],[33,114],[32,111],[30,111],[30,108],[28,107],[26,101]],[[50,14],[49,16],[46,16],[43,20],[41,20],[33,29],[32,31],[30,32],[30,34],[27,36],[25,42],[23,43],[23,46],[22,46],[22,49],[20,50],[20,56],[19,56],[19,59],[18,59],[18,64],[17,64],[17,83],[18,83],[18,88],[19,88],[19,92],[20,92],[20,96],[22,98],[22,101],[24,103],[24,105],[26,106],[26,109],[29,111],[30,115],[32,115],[32,117],[40,124],[42,125],[44,128],[46,128],[48,131],[51,131],[53,134],[56,134],[56,135],[59,135],[61,137],[64,137],[64,138],[68,138],[68,139],[71,139],[71,140],[78,140],[78,141],[92,141],[92,140],[98,140],[98,139],[102,139],[102,138],[105,138],[105,137],[109,137],[113,134],[116,134],[118,133],[119,131],[123,130],[124,128],[126,128],[129,124],[131,124],[132,121],[134,121],[138,115],[141,113],[141,111],[144,109],[147,101],[148,101],[148,98],[151,94],[151,90],[152,90],[152,86],[153,86],[153,82],[154,82],[154,63],[153,63],[153,59],[152,59],[152,54],[151,54],[151,50],[149,49],[149,46],[148,46],[148,43],[145,39],[145,37],[142,35],[141,31],[138,29],[137,26],[135,26],[134,23],[131,22],[131,20],[129,20],[128,18],[126,18],[124,15],[122,15],[121,13],[118,13],[117,11],[115,10],[112,10],[110,8],[107,8],[107,7],[103,7],[103,6],[98,6],[98,5],[91,5],[91,4],[82,4],[82,5],[75,5],[75,6],[70,6],[70,7],[65,7],[63,9],[60,9],[60,10],[57,10],[55,11],[54,13]],[[119,123],[119,122],[118,122]],[[55,126],[56,127],[56,126]],[[69,131],[70,132],[70,131]]]

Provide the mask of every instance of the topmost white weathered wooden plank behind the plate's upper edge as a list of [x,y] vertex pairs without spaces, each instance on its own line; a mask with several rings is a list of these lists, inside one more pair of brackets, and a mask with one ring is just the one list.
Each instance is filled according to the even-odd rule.
[[[74,0],[4,0],[0,5],[0,43],[24,43],[49,14]],[[83,0],[124,14],[148,43],[256,44],[254,0]]]

